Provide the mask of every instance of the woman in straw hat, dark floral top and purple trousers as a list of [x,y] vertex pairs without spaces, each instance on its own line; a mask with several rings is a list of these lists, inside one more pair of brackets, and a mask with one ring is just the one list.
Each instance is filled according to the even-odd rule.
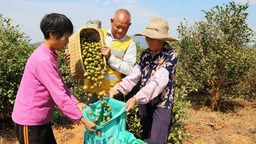
[[149,48],[140,56],[130,75],[109,91],[108,96],[126,94],[140,82],[138,92],[126,102],[127,111],[139,104],[142,139],[149,144],[166,144],[171,121],[177,52],[167,41],[177,41],[168,34],[168,22],[153,18],[146,29],[135,36],[145,36]]

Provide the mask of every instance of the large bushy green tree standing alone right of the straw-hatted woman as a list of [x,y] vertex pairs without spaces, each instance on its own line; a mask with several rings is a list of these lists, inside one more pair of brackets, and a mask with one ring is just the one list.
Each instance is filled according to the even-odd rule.
[[212,110],[222,98],[240,96],[236,86],[252,66],[246,46],[253,36],[246,22],[248,7],[235,2],[215,6],[203,11],[205,21],[178,27],[180,82],[190,92],[210,95]]

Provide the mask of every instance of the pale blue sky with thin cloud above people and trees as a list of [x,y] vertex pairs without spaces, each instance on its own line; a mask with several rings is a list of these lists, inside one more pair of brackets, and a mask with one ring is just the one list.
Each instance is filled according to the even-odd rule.
[[[43,40],[39,28],[42,17],[51,12],[63,13],[71,18],[75,31],[89,20],[100,20],[102,27],[110,26],[110,18],[119,8],[128,9],[132,15],[129,35],[143,31],[150,19],[162,17],[169,22],[169,33],[176,31],[184,18],[193,24],[204,19],[202,10],[210,11],[216,5],[223,6],[230,0],[0,0],[0,14],[11,18],[13,25],[30,37],[31,42]],[[235,0],[244,4],[247,0]],[[256,31],[256,0],[249,1],[248,25]]]

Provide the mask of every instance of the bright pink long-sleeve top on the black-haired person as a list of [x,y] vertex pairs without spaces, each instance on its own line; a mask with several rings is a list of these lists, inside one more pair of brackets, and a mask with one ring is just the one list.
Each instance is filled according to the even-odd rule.
[[27,61],[13,108],[12,119],[20,125],[51,121],[55,106],[71,120],[81,119],[78,100],[70,93],[58,68],[58,55],[41,44]]

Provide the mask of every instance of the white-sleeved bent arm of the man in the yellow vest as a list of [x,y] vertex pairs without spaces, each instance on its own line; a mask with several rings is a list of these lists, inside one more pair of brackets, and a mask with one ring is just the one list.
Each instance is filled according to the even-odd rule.
[[108,64],[116,71],[128,75],[136,62],[136,55],[136,44],[135,42],[132,42],[127,48],[122,60],[116,58],[114,55],[110,55]]

